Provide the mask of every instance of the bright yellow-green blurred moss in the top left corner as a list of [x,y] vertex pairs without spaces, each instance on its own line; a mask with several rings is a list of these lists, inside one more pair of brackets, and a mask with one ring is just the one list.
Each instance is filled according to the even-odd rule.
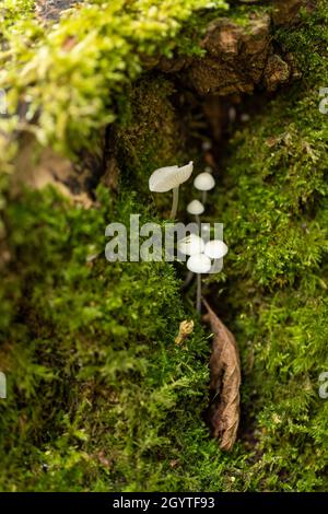
[[[14,17],[21,2],[5,0],[4,13],[5,7]],[[0,87],[9,90],[10,113],[26,102],[24,120],[42,144],[69,154],[91,148],[95,130],[115,119],[118,94],[141,73],[142,56],[169,57],[179,40],[183,51],[192,52],[197,45],[188,49],[186,42],[194,14],[226,7],[223,0],[94,0],[47,31],[34,15],[23,16],[14,31],[10,24],[2,33],[10,50],[0,54],[5,62]],[[177,37],[185,25],[186,36]]]

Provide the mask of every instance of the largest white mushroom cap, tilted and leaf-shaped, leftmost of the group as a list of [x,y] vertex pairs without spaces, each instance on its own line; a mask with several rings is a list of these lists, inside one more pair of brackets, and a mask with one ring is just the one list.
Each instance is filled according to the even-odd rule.
[[166,192],[188,180],[192,173],[194,163],[190,161],[185,166],[165,166],[155,170],[149,179],[149,188],[155,192]]

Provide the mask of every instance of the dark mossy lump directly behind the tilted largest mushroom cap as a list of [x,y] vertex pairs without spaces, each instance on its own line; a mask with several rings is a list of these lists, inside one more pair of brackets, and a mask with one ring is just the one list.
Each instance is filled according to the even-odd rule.
[[153,170],[186,159],[186,133],[171,96],[168,80],[143,78],[124,97],[115,142],[122,180],[149,197],[148,180]]

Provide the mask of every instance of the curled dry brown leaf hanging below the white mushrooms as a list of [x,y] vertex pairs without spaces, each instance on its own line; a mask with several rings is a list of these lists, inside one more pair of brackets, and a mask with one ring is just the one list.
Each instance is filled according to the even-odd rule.
[[221,448],[232,449],[239,424],[239,386],[241,362],[236,341],[232,332],[223,325],[207,301],[208,311],[203,319],[211,325],[214,335],[210,359],[213,393],[209,414],[214,437],[221,441]]

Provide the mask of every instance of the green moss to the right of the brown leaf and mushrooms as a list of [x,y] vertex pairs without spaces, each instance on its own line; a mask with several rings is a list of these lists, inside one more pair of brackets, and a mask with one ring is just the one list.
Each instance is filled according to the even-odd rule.
[[304,82],[280,93],[234,135],[216,197],[216,219],[231,248],[219,305],[242,348],[246,437],[258,452],[248,477],[259,474],[266,490],[327,489],[328,405],[318,394],[328,366],[321,16],[319,10],[317,24],[312,20],[277,36],[304,67]]

